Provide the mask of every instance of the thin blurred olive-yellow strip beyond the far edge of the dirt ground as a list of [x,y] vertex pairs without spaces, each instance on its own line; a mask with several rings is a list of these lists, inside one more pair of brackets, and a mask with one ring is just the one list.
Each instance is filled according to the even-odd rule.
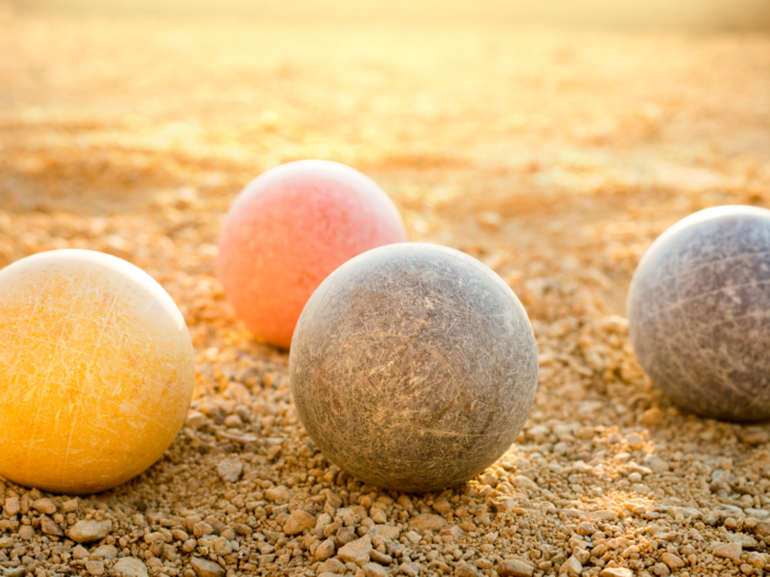
[[767,0],[15,0],[20,8],[79,12],[218,14],[292,20],[476,21],[599,26],[756,29]]

